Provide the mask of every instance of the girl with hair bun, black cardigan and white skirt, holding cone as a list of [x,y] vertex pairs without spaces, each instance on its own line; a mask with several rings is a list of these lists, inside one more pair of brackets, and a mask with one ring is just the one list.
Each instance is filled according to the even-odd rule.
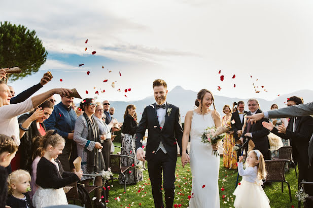
[[67,204],[63,187],[82,178],[82,171],[65,172],[56,159],[62,153],[64,145],[64,139],[56,131],[50,130],[43,137],[42,148],[45,153],[37,165],[36,184],[39,188],[32,197],[36,208]]

